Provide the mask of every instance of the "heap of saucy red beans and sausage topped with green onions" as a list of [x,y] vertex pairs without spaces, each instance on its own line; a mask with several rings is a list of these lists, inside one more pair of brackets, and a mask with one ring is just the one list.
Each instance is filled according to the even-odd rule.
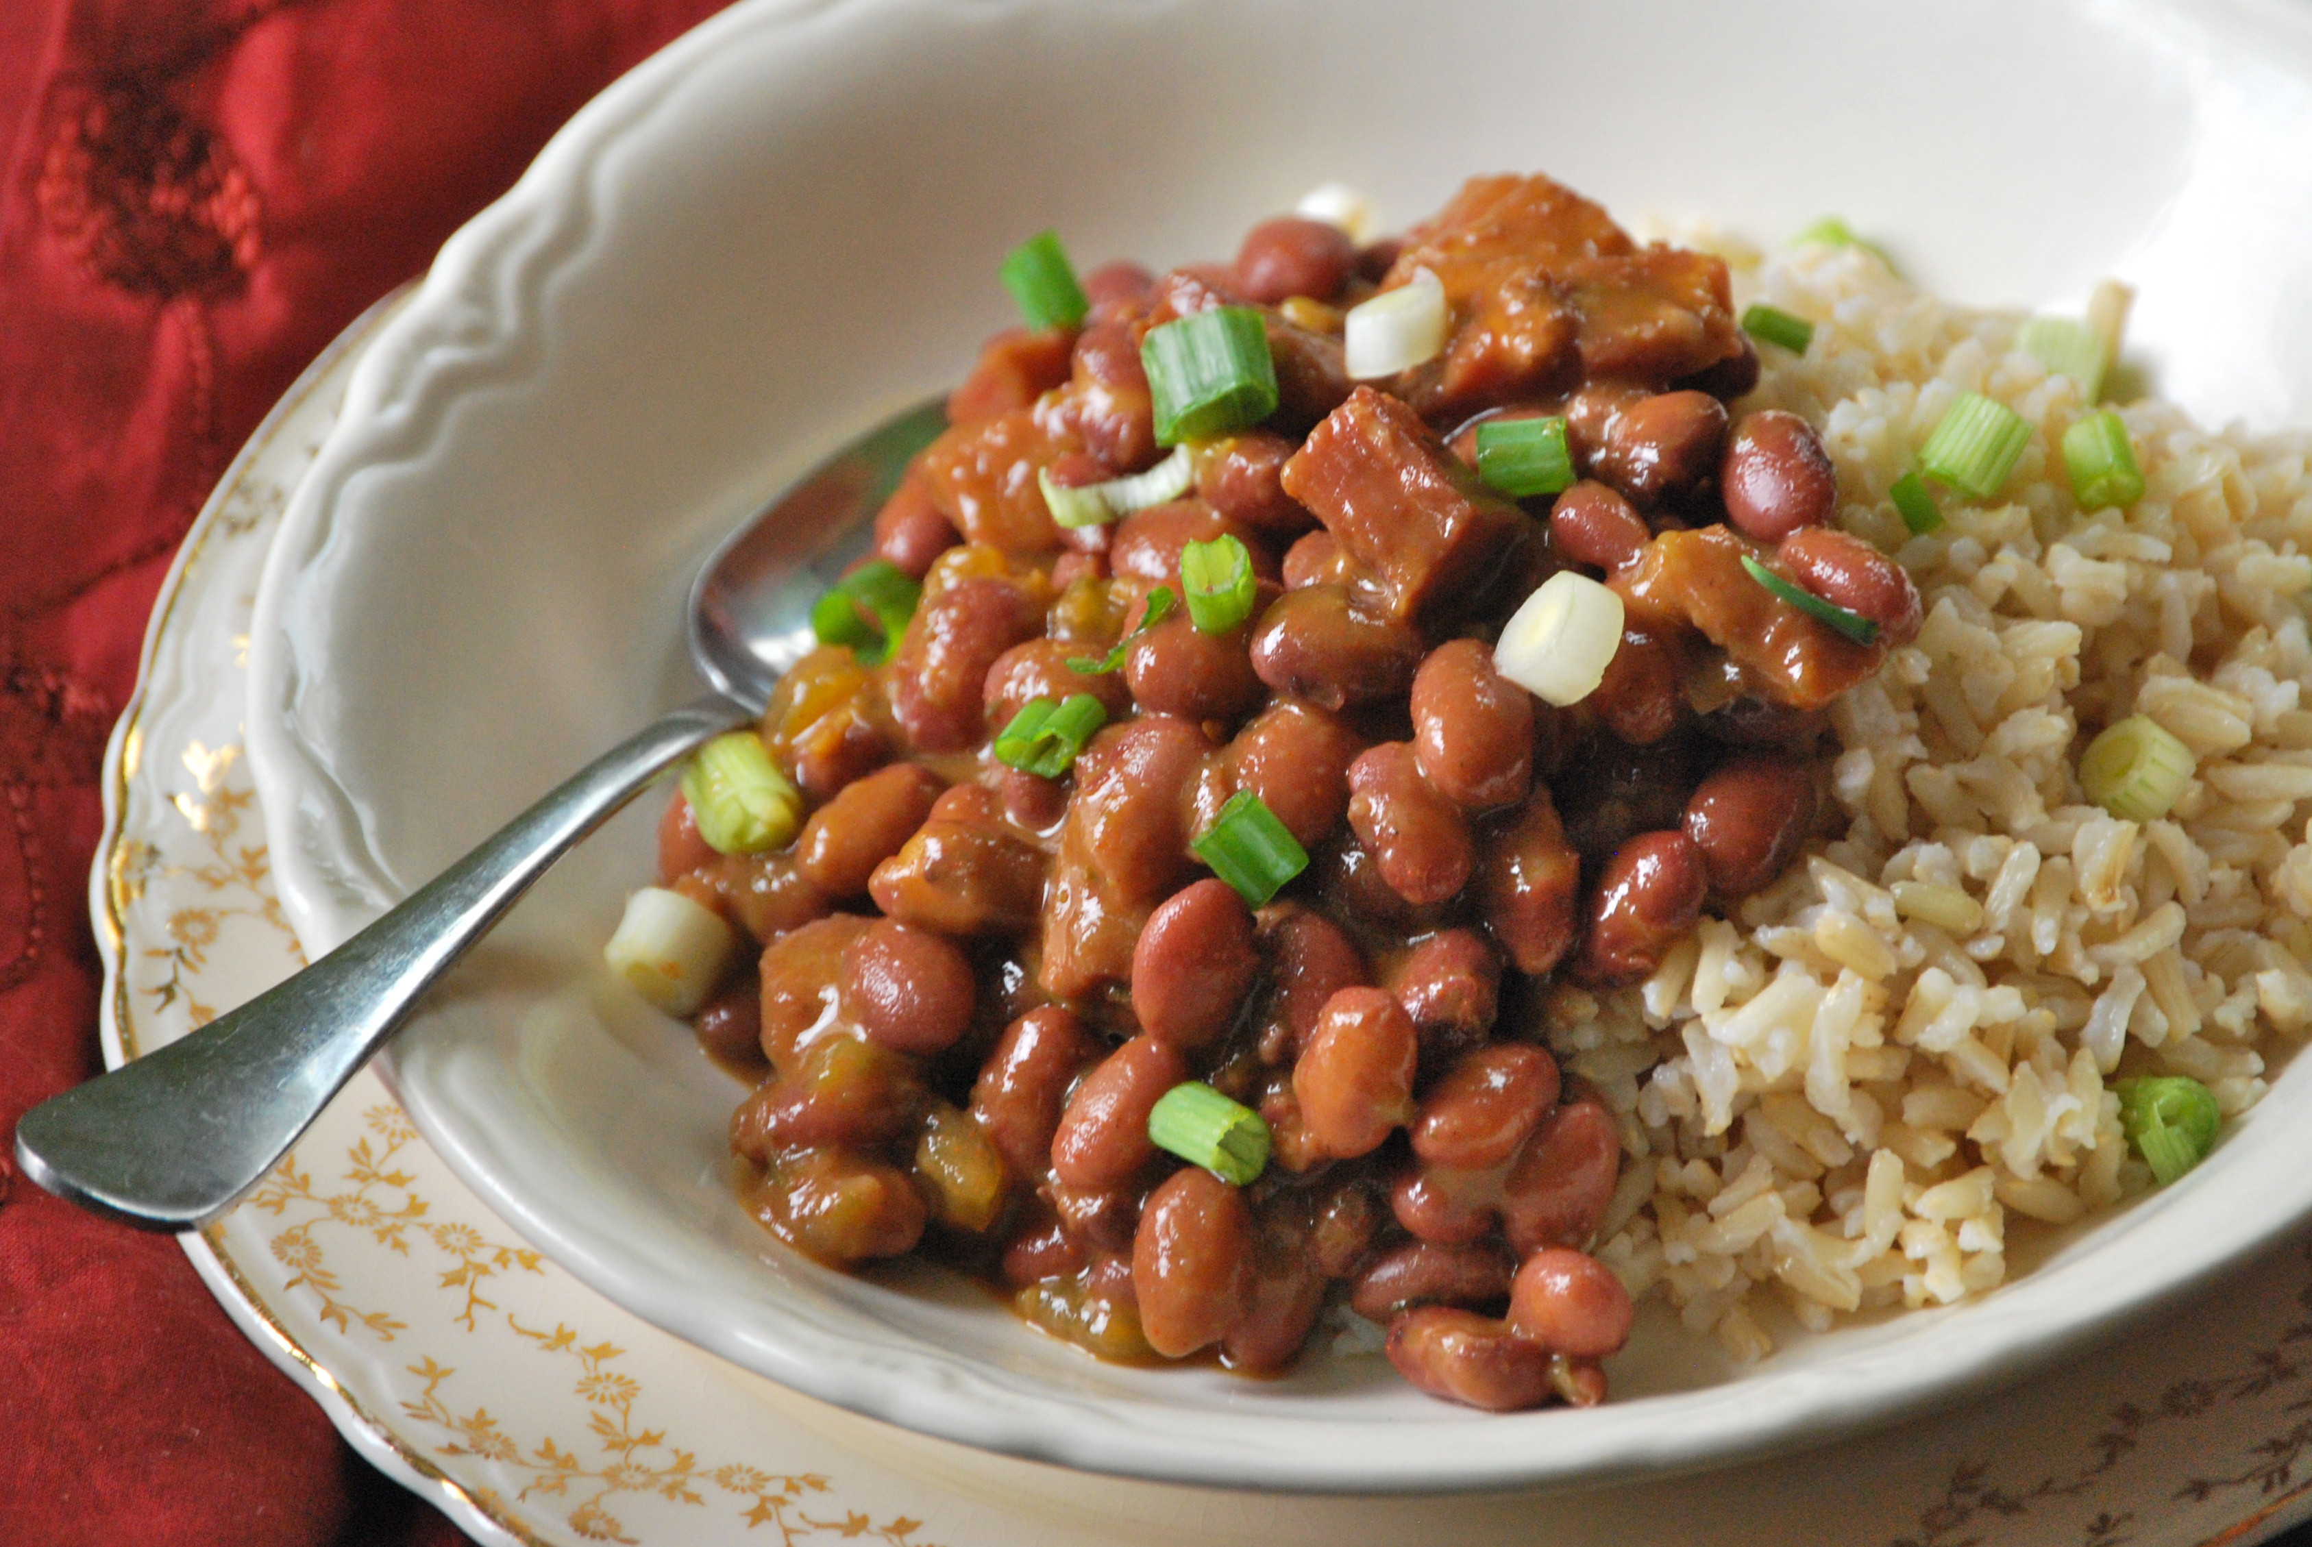
[[[1803,419],[1729,409],[1725,266],[1549,178],[1022,273],[1045,326],[990,340],[844,643],[744,733],[768,830],[717,832],[712,765],[659,830],[659,888],[761,948],[694,1022],[758,1082],[751,1212],[1110,1360],[1279,1371],[1346,1300],[1424,1392],[1600,1401],[1621,1140],[1535,997],[1792,865],[1910,578],[1831,525]],[[1440,321],[1376,377],[1392,296]],[[1609,599],[1602,650],[1549,636],[1602,671],[1537,696],[1510,624],[1556,576]]]

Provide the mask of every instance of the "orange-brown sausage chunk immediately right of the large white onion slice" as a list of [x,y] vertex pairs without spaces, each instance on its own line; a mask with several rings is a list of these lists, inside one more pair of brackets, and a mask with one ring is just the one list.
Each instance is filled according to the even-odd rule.
[[[1785,539],[1785,546],[1829,534],[1826,527],[1806,527]],[[1894,643],[1889,636],[1880,636],[1875,645],[1857,645],[1759,585],[1743,569],[1743,555],[1759,557],[1759,550],[1727,527],[1658,532],[1646,553],[1614,571],[1607,585],[1621,594],[1632,629],[1699,629],[1766,696],[1789,708],[1820,710],[1887,659]]]

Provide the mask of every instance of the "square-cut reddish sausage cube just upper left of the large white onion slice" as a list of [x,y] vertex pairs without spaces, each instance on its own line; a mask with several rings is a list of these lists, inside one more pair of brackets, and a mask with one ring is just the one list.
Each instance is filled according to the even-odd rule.
[[1528,525],[1420,414],[1371,386],[1316,428],[1285,462],[1283,486],[1378,580],[1399,617],[1475,590]]

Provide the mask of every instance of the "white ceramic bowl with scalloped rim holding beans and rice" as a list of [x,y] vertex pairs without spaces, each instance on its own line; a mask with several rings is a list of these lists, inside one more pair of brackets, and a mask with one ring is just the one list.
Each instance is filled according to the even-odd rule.
[[[740,5],[587,106],[375,342],[266,573],[250,747],[321,950],[687,689],[680,594],[768,493],[953,382],[1003,250],[1225,254],[1309,185],[1396,217],[1547,169],[1773,240],[1838,210],[1961,298],[2118,273],[2210,419],[2312,419],[2303,7],[1954,0]],[[650,802],[654,807],[654,802]],[[2312,1068],[2187,1184],[1981,1304],[1748,1371],[1667,1327],[1600,1411],[1484,1418],[1378,1362],[1112,1369],[978,1290],[823,1272],[738,1207],[738,1087],[596,967],[629,812],[393,1048],[506,1221],[640,1316],[837,1404],[1057,1461],[1283,1489],[1702,1466],[1887,1420],[2109,1330],[2312,1207]]]

